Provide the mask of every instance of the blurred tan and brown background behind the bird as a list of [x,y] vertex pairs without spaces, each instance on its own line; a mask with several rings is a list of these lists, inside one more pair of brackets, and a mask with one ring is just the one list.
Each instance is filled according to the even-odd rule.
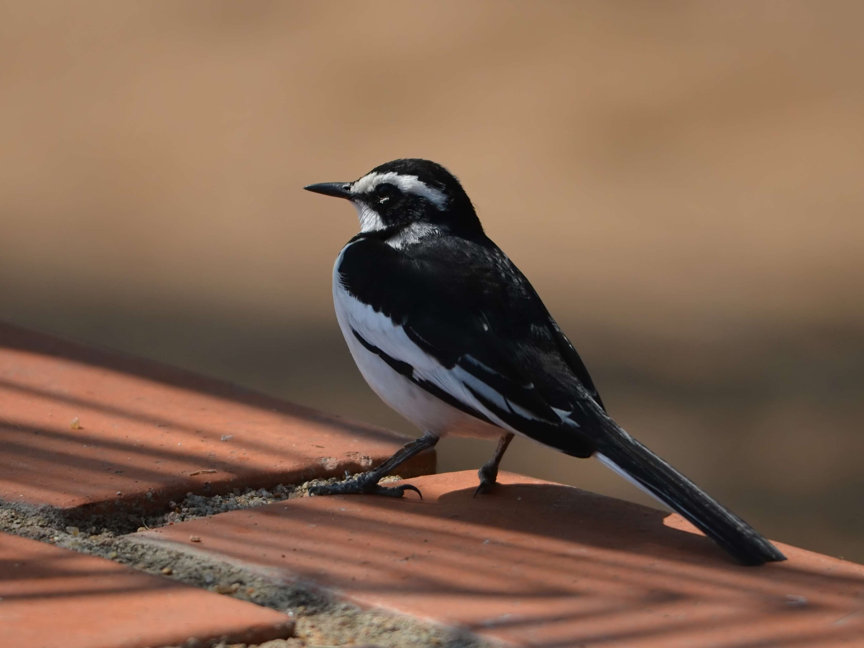
[[[634,435],[864,562],[864,4],[0,4],[0,318],[414,434],[346,351],[350,206],[459,175]],[[2,340],[0,340],[2,343]],[[492,447],[448,440],[442,470]],[[516,442],[507,469],[645,501]]]

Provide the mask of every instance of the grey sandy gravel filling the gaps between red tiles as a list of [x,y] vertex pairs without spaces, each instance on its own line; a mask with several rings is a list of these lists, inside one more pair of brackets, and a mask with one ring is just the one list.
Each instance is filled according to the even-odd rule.
[[[383,482],[398,480],[388,477]],[[135,531],[178,524],[227,511],[308,496],[312,486],[338,481],[312,480],[270,490],[234,489],[227,495],[187,493],[181,502],[168,502],[158,511],[114,511],[83,516],[48,506],[35,507],[0,501],[0,530],[70,550],[102,556],[134,569],[181,581],[211,592],[232,596],[287,613],[295,619],[295,638],[269,641],[258,648],[352,646],[353,648],[487,648],[470,632],[421,622],[378,609],[362,609],[322,592],[311,583],[286,583],[264,571],[214,561],[199,550],[168,549],[136,537]],[[205,648],[190,639],[171,648]],[[211,642],[209,645],[213,645]],[[218,648],[252,648],[244,644],[215,644]]]

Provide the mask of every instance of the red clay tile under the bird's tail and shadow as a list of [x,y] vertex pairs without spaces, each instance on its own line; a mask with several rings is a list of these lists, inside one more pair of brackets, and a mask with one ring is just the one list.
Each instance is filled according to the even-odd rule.
[[[293,499],[137,534],[283,570],[514,645],[864,645],[864,566],[780,544],[740,567],[669,514],[503,473],[410,480],[421,501]],[[679,528],[673,528],[678,526]]]

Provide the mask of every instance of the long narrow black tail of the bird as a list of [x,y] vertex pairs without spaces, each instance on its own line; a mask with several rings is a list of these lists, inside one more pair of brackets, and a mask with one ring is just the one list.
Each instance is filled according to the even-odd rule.
[[595,456],[607,467],[683,515],[742,564],[761,565],[786,559],[744,520],[708,497],[612,419],[603,418],[606,434],[598,442]]

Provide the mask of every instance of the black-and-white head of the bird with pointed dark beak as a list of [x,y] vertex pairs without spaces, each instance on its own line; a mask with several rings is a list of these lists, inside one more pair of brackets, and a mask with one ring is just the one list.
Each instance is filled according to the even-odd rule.
[[415,224],[454,234],[483,232],[465,189],[446,168],[429,160],[393,160],[353,182],[321,182],[303,188],[351,200],[360,232]]

